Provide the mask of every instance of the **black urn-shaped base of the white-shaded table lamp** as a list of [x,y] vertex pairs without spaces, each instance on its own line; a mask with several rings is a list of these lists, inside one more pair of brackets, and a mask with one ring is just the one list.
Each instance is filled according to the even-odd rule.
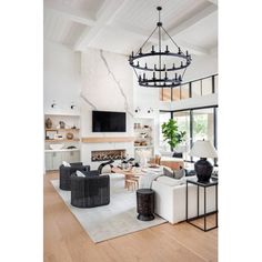
[[210,181],[213,165],[204,158],[201,158],[198,162],[194,163],[194,170],[198,177],[198,181],[206,183]]

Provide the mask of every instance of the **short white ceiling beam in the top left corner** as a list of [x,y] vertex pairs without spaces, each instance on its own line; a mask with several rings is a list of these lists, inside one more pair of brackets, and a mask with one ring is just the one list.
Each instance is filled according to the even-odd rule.
[[44,9],[47,11],[54,12],[61,17],[64,17],[73,22],[78,22],[84,26],[93,27],[95,24],[95,19],[92,13],[83,12],[77,9],[69,9],[57,3],[46,3]]

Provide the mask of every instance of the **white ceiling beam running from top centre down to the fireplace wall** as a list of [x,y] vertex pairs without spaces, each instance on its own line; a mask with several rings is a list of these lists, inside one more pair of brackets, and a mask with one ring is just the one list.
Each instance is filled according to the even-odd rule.
[[85,29],[82,36],[75,42],[73,49],[81,51],[85,49],[91,41],[104,29],[104,24],[112,21],[127,0],[105,0],[97,14],[97,22],[91,29]]

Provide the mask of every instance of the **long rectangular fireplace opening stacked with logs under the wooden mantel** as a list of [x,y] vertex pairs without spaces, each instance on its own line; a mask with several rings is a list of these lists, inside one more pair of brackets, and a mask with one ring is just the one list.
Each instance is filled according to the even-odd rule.
[[91,161],[121,160],[125,157],[125,149],[91,151]]

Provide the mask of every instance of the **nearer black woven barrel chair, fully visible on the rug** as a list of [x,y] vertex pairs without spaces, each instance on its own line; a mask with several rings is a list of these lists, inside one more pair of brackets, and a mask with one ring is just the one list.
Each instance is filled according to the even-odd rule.
[[71,205],[94,208],[110,203],[109,175],[99,175],[98,170],[83,172],[84,177],[71,175]]

